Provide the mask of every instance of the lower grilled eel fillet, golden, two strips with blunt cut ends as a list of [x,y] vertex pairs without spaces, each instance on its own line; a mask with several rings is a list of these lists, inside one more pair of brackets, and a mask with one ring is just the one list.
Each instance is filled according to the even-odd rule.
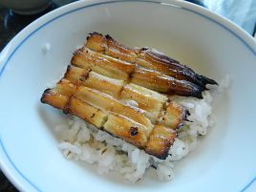
[[[138,106],[126,104],[127,99]],[[162,160],[187,115],[167,96],[72,65],[55,88],[45,90],[41,102],[81,117]]]

